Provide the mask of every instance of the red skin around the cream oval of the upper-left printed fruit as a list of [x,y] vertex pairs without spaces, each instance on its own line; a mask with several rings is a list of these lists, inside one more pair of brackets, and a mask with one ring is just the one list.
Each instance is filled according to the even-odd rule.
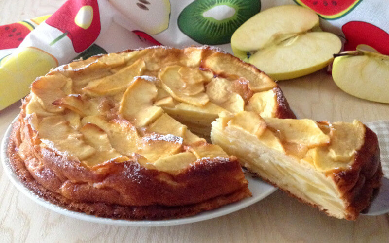
[[[93,18],[87,29],[78,26],[74,19],[78,11],[83,6],[91,6]],[[68,0],[51,17],[46,19],[46,23],[71,39],[74,51],[77,53],[86,50],[97,39],[100,34],[100,13],[97,0]]]

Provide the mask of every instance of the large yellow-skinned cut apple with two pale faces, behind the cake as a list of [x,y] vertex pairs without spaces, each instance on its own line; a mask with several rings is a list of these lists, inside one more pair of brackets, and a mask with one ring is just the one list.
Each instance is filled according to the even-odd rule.
[[340,39],[322,32],[310,9],[283,5],[246,21],[231,37],[234,54],[275,80],[292,79],[326,67],[342,47]]

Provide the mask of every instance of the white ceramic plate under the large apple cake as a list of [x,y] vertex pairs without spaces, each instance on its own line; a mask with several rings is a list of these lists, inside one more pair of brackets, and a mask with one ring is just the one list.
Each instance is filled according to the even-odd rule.
[[[13,122],[15,122],[18,119],[15,118]],[[12,123],[13,123],[12,122]],[[35,203],[40,204],[41,206],[45,208],[49,208],[50,210],[53,210],[57,213],[76,218],[85,220],[88,222],[94,222],[94,223],[100,223],[100,224],[106,224],[106,225],[116,225],[116,226],[172,226],[172,225],[182,225],[182,224],[188,224],[188,223],[194,223],[198,221],[203,221],[207,219],[216,218],[219,216],[223,216],[226,214],[229,214],[231,212],[235,212],[239,209],[246,208],[262,199],[264,199],[266,196],[270,195],[274,191],[276,191],[276,188],[273,186],[259,180],[258,178],[252,178],[251,174],[246,173],[246,178],[248,180],[248,188],[252,192],[252,197],[243,199],[239,202],[232,203],[226,206],[223,206],[221,208],[217,208],[210,211],[205,211],[199,214],[196,214],[191,217],[186,217],[182,219],[172,219],[172,220],[143,220],[143,221],[130,221],[130,220],[114,220],[114,219],[108,219],[108,218],[101,218],[101,217],[95,217],[92,215],[88,215],[81,212],[75,212],[71,211],[65,208],[61,208],[57,205],[51,204],[47,202],[46,200],[40,198],[37,196],[34,192],[30,191],[21,181],[19,181],[18,177],[14,173],[14,171],[11,168],[8,156],[7,156],[7,145],[9,136],[12,130],[12,125],[10,125],[7,129],[7,131],[4,134],[4,138],[1,142],[1,151],[0,156],[2,160],[2,164],[4,167],[4,172],[7,174],[8,178],[11,180],[11,182],[18,188],[19,191],[21,191],[24,195],[29,197],[31,200],[33,200]]]

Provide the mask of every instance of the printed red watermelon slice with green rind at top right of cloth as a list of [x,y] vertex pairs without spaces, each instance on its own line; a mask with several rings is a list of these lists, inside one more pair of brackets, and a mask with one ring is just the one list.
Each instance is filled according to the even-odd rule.
[[336,19],[347,15],[362,0],[294,0],[297,4],[315,11],[325,19]]

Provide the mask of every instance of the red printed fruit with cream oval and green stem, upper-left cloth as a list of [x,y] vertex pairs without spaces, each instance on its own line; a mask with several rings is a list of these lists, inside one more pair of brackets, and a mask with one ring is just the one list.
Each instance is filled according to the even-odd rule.
[[50,45],[68,36],[74,51],[82,52],[93,44],[100,34],[97,0],[68,0],[46,20],[46,23],[63,32]]

